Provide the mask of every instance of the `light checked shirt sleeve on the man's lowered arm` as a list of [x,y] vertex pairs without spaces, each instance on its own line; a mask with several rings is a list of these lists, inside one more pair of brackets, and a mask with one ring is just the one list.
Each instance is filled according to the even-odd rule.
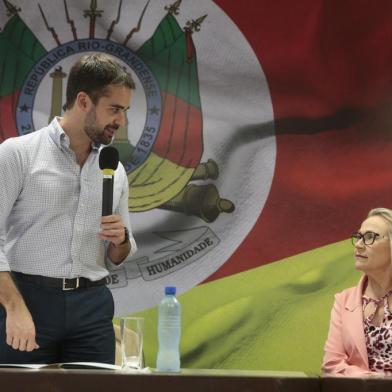
[[6,257],[6,222],[23,188],[23,157],[15,148],[17,138],[0,144],[0,271],[10,271]]

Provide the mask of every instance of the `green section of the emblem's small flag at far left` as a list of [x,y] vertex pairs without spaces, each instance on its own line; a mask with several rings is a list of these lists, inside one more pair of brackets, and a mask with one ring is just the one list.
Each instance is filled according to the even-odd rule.
[[13,16],[0,32],[0,97],[19,90],[28,72],[46,53],[23,20]]

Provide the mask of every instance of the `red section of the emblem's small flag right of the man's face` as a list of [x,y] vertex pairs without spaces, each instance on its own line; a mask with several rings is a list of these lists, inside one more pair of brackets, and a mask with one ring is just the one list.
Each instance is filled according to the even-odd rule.
[[178,165],[195,168],[203,153],[200,109],[167,94],[153,151]]

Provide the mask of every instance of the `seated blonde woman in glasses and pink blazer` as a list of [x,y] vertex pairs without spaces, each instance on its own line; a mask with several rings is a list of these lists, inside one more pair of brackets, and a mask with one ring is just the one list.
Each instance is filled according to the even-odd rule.
[[392,375],[392,210],[369,212],[352,235],[358,285],[335,296],[324,374]]

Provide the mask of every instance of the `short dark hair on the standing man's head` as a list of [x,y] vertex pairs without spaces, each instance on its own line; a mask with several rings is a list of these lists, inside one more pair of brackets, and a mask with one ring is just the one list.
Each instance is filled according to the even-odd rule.
[[71,68],[67,82],[66,109],[75,103],[76,96],[84,91],[96,104],[107,94],[109,85],[122,85],[135,89],[132,76],[112,57],[94,53],[81,57]]

